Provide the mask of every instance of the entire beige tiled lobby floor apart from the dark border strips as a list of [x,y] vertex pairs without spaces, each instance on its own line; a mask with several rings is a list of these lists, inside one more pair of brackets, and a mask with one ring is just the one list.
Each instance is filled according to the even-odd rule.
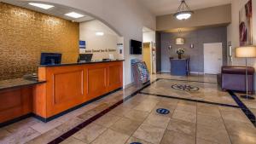
[[[153,77],[155,78],[216,83],[215,76],[183,78],[161,74]],[[173,81],[162,80],[161,82],[160,80],[159,82],[163,83],[161,86],[165,86],[164,83],[169,84]],[[236,105],[234,101],[231,101],[228,93],[218,90],[217,84],[213,84],[214,86],[195,82],[193,84],[201,90],[213,90],[213,95],[217,97],[225,97],[224,101],[218,102]],[[155,89],[154,85],[151,88]],[[151,88],[147,89],[150,91]],[[0,129],[0,143],[48,143],[136,90],[136,87],[130,87],[118,91],[47,124],[35,118],[27,118],[11,124]],[[168,89],[163,94],[168,95],[169,91],[172,89]],[[206,93],[209,94],[209,91],[201,91],[201,93],[207,96]],[[183,94],[183,92],[180,93]],[[166,108],[170,113],[161,115],[156,112],[158,108]],[[255,144],[256,129],[240,108],[137,94],[61,143],[130,144],[132,142],[143,144]]]

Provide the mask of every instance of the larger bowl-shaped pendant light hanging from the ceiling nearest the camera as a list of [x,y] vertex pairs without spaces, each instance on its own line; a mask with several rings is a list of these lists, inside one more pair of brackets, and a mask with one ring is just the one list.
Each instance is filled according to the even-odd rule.
[[177,20],[188,20],[194,12],[189,9],[185,0],[181,0],[181,3],[177,9],[177,12],[173,14]]

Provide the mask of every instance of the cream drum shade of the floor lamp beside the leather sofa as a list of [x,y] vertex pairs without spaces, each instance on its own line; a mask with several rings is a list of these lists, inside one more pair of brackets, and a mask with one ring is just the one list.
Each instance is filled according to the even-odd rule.
[[235,49],[236,57],[241,58],[255,58],[256,57],[256,46],[249,45],[238,47]]

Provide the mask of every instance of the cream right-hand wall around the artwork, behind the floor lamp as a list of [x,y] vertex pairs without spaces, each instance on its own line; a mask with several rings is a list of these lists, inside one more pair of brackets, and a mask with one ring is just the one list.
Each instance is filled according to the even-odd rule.
[[[233,47],[233,64],[234,66],[245,66],[245,59],[236,58],[234,49],[240,45],[239,43],[239,11],[248,0],[232,0],[232,22],[228,26],[228,41],[231,42]],[[253,45],[256,45],[256,1],[253,0]],[[256,68],[256,58],[249,59],[248,65]],[[256,80],[255,84],[256,86]],[[256,88],[255,88],[256,89]]]

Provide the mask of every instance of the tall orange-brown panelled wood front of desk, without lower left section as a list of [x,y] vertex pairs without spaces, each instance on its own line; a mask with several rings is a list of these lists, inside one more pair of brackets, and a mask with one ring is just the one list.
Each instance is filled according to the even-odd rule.
[[33,113],[44,121],[123,87],[123,60],[40,66]]

